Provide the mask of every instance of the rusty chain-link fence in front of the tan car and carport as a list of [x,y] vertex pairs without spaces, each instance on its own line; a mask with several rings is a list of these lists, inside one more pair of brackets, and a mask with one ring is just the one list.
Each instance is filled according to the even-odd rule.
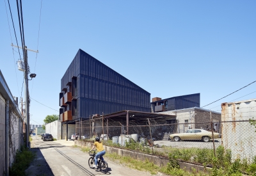
[[81,134],[81,140],[93,141],[95,136],[99,136],[104,145],[165,156],[175,149],[211,150],[216,155],[217,148],[223,146],[225,151],[231,152],[232,160],[239,158],[252,161],[256,156],[253,116],[229,120],[223,118],[223,112],[222,120],[216,120],[218,115],[210,113],[211,111],[202,113],[202,116],[210,117],[201,119],[203,122],[192,116],[188,121],[180,123],[182,120],[179,119],[182,118],[177,116],[176,121],[138,118],[129,121],[129,125],[126,119],[115,120],[101,116],[90,120],[77,120],[76,132]]

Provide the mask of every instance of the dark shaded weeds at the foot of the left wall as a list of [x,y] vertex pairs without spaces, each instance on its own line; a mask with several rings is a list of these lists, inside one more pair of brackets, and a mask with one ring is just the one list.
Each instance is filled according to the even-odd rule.
[[25,175],[25,170],[28,168],[29,164],[35,158],[35,153],[31,152],[28,148],[24,146],[20,149],[21,152],[17,151],[15,156],[15,162],[12,167],[9,168],[9,175]]

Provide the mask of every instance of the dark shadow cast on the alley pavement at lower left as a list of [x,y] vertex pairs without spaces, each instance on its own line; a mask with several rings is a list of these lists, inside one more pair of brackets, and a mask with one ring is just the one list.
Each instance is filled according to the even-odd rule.
[[26,175],[54,176],[40,149],[31,148],[31,151],[35,152],[36,156],[35,159],[30,163],[29,168],[26,169]]

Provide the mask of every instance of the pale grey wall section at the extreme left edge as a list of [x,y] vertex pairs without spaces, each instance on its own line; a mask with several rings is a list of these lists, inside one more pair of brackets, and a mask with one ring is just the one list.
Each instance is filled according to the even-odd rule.
[[0,175],[5,168],[5,100],[0,93]]

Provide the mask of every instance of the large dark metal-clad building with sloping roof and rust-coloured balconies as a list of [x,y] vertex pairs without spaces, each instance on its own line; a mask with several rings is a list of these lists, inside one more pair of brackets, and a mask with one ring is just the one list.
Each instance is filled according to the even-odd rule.
[[79,49],[61,79],[60,120],[133,110],[150,112],[150,93]]

